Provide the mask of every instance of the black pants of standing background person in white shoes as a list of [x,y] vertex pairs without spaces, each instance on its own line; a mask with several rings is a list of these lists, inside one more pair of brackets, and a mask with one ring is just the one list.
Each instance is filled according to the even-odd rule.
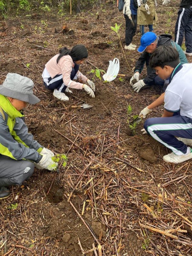
[[136,29],[137,29],[137,15],[131,14],[134,27],[131,23],[131,20],[126,14],[124,14],[124,17],[125,17],[125,44],[129,45],[131,44],[133,36],[135,35]]

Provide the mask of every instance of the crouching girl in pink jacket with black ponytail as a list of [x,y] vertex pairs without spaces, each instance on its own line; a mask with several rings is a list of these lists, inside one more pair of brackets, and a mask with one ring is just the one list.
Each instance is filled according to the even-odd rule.
[[[87,57],[87,48],[78,44],[71,51],[67,47],[60,49],[59,54],[45,64],[42,77],[45,87],[53,90],[53,96],[60,100],[69,100],[64,92],[72,93],[69,88],[75,88],[84,89],[92,98],[95,97],[94,83],[79,71],[79,64],[82,64]],[[84,84],[73,81],[75,76]],[[85,83],[88,83],[91,88]]]

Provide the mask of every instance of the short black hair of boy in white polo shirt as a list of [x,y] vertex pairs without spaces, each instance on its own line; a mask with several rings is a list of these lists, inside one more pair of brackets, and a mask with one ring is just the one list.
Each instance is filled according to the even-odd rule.
[[155,52],[151,55],[149,60],[149,66],[151,68],[170,66],[176,68],[180,63],[179,53],[172,46],[159,46]]

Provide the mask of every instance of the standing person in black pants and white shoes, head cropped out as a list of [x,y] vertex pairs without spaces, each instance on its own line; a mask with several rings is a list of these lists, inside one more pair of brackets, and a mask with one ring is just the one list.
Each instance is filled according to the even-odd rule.
[[[132,44],[133,36],[135,35],[137,29],[137,1],[135,0],[125,0],[123,7],[123,13],[125,17],[125,49],[135,50],[137,45]],[[133,26],[134,24],[134,26]]]

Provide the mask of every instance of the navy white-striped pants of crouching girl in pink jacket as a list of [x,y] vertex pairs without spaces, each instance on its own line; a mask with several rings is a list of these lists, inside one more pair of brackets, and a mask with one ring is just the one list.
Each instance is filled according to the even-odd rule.
[[[71,80],[74,79],[78,70],[79,70],[79,65],[75,63],[75,66],[74,66],[74,68],[72,68],[71,75],[70,75]],[[50,77],[48,79],[48,83],[44,82],[44,86],[47,89],[52,90],[52,91],[57,89],[59,92],[65,92],[65,90],[67,88],[67,86],[65,84],[63,84],[62,74],[56,75],[53,78]]]

